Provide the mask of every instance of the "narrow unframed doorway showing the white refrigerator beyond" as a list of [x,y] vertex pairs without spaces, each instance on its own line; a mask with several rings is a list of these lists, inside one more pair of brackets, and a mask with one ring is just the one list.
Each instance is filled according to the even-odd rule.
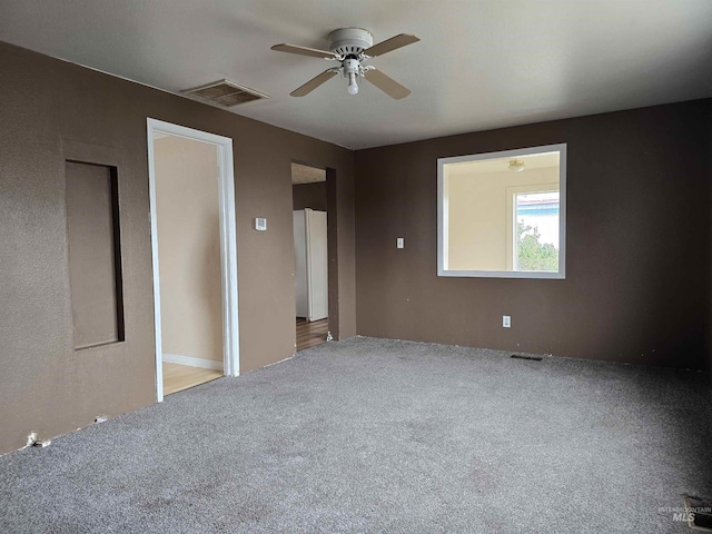
[[320,345],[329,333],[327,171],[291,164],[295,245],[296,350]]

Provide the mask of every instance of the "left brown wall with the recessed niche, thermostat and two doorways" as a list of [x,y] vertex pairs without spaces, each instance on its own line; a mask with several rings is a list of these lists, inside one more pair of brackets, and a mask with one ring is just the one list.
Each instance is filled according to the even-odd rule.
[[[354,152],[4,43],[0,71],[0,453],[30,431],[55,436],[156,399],[147,117],[234,140],[241,372],[294,354],[293,160],[335,169],[338,327],[355,335]],[[126,340],[81,352],[68,147],[118,161]],[[253,230],[255,217],[269,230]]]

